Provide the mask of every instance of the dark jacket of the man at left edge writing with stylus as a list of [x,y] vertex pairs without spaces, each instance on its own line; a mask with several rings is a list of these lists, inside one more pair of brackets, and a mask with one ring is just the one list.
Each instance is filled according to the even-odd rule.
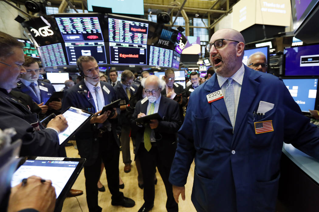
[[45,129],[39,123],[40,130],[33,131],[32,123],[39,121],[36,113],[31,113],[25,106],[8,93],[0,89],[0,128],[2,130],[13,127],[17,134],[12,141],[22,140],[20,156],[66,156],[64,146],[59,145],[59,138],[53,129]]

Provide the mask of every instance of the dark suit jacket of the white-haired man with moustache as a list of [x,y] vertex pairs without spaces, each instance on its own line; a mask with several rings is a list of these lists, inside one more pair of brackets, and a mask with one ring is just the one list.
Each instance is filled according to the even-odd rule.
[[[144,139],[145,127],[137,126],[135,119],[140,112],[146,114],[147,105],[148,100],[144,102],[144,104],[141,104],[141,100],[139,100],[136,103],[135,111],[131,118],[132,131],[137,132],[135,149],[136,153],[138,152],[141,142]],[[158,113],[161,117],[163,117],[163,121],[159,121],[159,126],[154,129],[157,149],[161,155],[161,159],[170,165],[174,158],[177,145],[176,134],[182,125],[179,116],[178,103],[162,95],[159,102]]]

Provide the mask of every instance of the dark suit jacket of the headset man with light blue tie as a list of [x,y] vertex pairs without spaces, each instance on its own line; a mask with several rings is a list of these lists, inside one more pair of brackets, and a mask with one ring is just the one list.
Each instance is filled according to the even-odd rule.
[[[116,93],[112,87],[112,85],[100,81],[101,84],[101,90],[103,92],[105,105],[117,100]],[[103,89],[106,87],[110,92],[107,93]],[[92,97],[91,92],[89,92],[89,89],[86,87],[84,80],[82,80],[80,83],[70,87],[68,90],[64,92],[63,96],[63,103],[62,103],[62,110],[64,111],[69,106],[73,106],[85,111],[89,111],[91,113],[95,113],[95,107],[94,107],[94,100]],[[119,107],[117,108],[118,116],[120,114]],[[117,145],[119,145],[119,141],[117,139],[116,134],[116,124],[117,124],[117,118],[116,119],[108,119],[108,121],[111,123],[112,127],[112,133],[117,141]],[[90,121],[88,121],[81,129],[78,131],[78,133],[75,134],[75,138],[77,141],[78,151],[81,157],[86,158],[86,166],[90,166],[94,163],[96,160],[99,151],[99,142],[97,141],[97,124],[90,124]],[[107,142],[107,140],[105,141]]]

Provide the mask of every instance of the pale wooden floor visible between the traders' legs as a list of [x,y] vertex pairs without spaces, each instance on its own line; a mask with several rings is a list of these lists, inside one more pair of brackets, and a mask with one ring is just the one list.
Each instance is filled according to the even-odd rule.
[[[75,141],[71,141],[72,143],[75,143]],[[71,147],[65,147],[66,153],[68,157],[79,157],[78,150],[75,149],[73,146]],[[130,152],[131,152],[131,158],[134,158],[133,153],[133,145],[132,142],[130,142]],[[185,185],[185,195],[186,200],[183,201],[181,196],[179,198],[179,211],[196,211],[193,203],[190,200],[191,192],[192,192],[192,186],[194,181],[194,162],[192,163],[190,167],[190,171],[187,178],[187,184]],[[102,212],[114,212],[114,211],[138,211],[140,207],[143,205],[143,190],[140,189],[137,185],[137,170],[135,167],[135,162],[132,162],[132,169],[129,173],[125,173],[123,171],[124,164],[122,162],[122,152],[120,153],[120,176],[122,178],[122,181],[124,182],[124,189],[120,189],[124,193],[124,196],[129,197],[135,201],[135,206],[133,208],[123,208],[120,206],[112,206],[111,205],[111,194],[107,187],[107,181],[106,181],[106,174],[105,170],[104,173],[101,176],[101,183],[106,188],[105,192],[99,192],[99,206],[103,208]],[[157,176],[157,185],[155,185],[155,201],[154,201],[154,207],[151,211],[153,212],[161,212],[161,211],[167,211],[165,204],[167,200],[166,192],[164,183],[159,175],[159,172],[156,172]],[[82,169],[81,173],[79,174],[77,180],[75,181],[73,189],[79,189],[83,190],[84,194],[78,196],[78,201],[80,202],[81,208],[83,212],[88,212],[87,204],[86,204],[86,194],[85,194],[85,178],[84,178],[84,171]],[[63,212],[77,212],[81,211],[78,201],[75,197],[67,197],[63,204]]]

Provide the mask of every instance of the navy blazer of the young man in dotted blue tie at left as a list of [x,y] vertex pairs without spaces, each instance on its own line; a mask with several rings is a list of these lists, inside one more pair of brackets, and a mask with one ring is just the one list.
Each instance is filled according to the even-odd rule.
[[[43,82],[41,80],[38,80],[38,85],[48,88],[48,91],[44,91],[40,89],[41,102],[45,104],[48,101],[48,99],[51,97],[53,92],[55,92],[56,90],[54,89],[53,85]],[[41,104],[41,102],[39,102],[38,97],[21,81],[18,82],[18,87],[15,88],[14,90],[28,94],[33,99],[33,101],[35,101],[35,103],[37,103],[38,105]]]

